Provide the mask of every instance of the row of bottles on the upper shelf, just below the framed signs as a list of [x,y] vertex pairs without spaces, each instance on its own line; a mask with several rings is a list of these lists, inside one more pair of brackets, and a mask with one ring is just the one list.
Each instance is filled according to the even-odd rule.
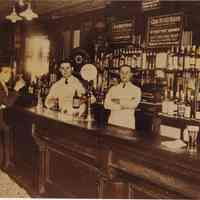
[[172,46],[169,49],[158,50],[128,46],[115,48],[110,53],[99,53],[95,57],[95,63],[101,69],[118,69],[126,64],[140,69],[200,70],[200,47]]

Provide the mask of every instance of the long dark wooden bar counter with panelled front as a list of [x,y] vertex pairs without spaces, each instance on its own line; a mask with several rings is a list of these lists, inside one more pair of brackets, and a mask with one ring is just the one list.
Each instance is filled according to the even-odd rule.
[[166,137],[46,109],[12,107],[5,118],[1,167],[33,197],[200,198],[200,149],[191,155],[163,146]]

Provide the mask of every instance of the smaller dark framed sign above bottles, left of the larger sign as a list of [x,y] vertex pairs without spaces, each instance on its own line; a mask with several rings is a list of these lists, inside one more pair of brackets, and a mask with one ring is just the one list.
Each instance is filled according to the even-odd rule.
[[112,23],[111,41],[113,44],[132,44],[135,34],[135,19]]

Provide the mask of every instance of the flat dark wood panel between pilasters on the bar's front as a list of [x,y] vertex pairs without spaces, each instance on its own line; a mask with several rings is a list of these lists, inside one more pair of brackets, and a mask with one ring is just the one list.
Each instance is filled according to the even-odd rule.
[[46,190],[49,197],[98,198],[98,170],[78,156],[47,150]]

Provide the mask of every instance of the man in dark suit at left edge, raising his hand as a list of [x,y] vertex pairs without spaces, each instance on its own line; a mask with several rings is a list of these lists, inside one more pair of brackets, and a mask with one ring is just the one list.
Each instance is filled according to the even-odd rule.
[[19,91],[25,86],[25,82],[20,78],[14,86],[13,91],[9,91],[7,87],[7,82],[11,78],[11,68],[10,67],[0,67],[0,166],[5,162],[6,164],[6,149],[8,147],[8,134],[9,127],[4,121],[4,108],[12,106],[17,98],[19,97]]

